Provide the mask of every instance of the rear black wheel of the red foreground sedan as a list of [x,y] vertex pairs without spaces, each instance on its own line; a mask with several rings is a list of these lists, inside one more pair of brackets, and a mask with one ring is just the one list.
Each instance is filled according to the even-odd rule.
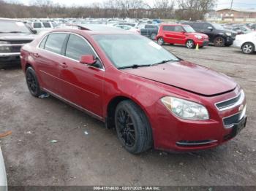
[[34,97],[39,97],[42,94],[42,91],[37,80],[36,72],[32,67],[26,69],[26,84],[28,85],[29,92]]

